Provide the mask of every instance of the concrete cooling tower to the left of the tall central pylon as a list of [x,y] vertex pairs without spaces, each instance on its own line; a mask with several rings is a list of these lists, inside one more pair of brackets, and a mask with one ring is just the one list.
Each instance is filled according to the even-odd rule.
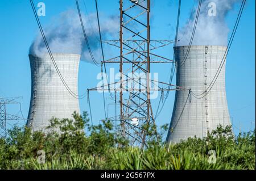
[[[77,94],[80,55],[52,55],[65,82]],[[42,58],[29,55],[29,58],[32,85],[27,126],[31,127],[32,131],[44,131],[52,117],[71,119],[74,111],[80,113],[79,100],[69,94],[64,87],[49,54]]]

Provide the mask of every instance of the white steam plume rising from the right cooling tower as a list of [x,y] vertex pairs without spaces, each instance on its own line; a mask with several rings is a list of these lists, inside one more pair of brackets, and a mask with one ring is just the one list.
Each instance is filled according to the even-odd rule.
[[[241,0],[203,0],[192,45],[226,46],[229,28],[225,18],[236,2]],[[178,33],[177,40],[180,41],[177,42],[177,46],[189,45],[196,18],[197,8],[195,9],[192,18]]]

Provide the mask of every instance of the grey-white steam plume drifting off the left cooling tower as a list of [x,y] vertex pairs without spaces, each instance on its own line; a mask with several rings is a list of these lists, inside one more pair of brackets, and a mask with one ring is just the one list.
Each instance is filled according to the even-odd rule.
[[[82,20],[90,49],[98,62],[101,60],[100,37],[98,34],[97,15],[82,14]],[[113,17],[101,16],[102,36],[111,36],[118,32],[118,20]],[[86,47],[84,34],[77,11],[68,10],[53,18],[50,24],[44,28],[44,34],[52,53],[81,54],[81,60],[92,62],[88,48]],[[42,57],[48,53],[42,35],[39,33],[31,44],[30,54]]]

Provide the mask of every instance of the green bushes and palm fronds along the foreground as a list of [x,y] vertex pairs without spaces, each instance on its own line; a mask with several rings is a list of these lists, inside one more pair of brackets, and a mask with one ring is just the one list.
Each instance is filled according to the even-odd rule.
[[[0,169],[255,169],[255,131],[234,137],[230,127],[218,127],[204,139],[176,145],[154,138],[142,150],[115,137],[109,120],[91,126],[86,112],[73,117],[75,121],[52,119],[48,134],[26,127],[10,130],[9,137],[0,138]],[[148,130],[155,135],[155,128]],[[38,162],[44,160],[39,150],[45,152],[46,163]],[[215,164],[209,163],[214,161],[210,150],[216,152]]]

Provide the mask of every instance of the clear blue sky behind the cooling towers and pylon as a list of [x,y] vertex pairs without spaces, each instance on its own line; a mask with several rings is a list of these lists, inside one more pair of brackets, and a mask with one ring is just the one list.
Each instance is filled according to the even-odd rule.
[[[73,9],[76,11],[75,0],[40,0],[46,4],[46,16],[41,16],[43,27],[60,12]],[[81,10],[85,12],[82,0]],[[85,0],[89,13],[95,13],[94,0]],[[187,21],[193,1],[183,1],[181,5],[180,26]],[[230,29],[233,28],[238,13],[238,6],[230,11],[226,22]],[[119,15],[119,4],[117,0],[98,0],[98,8],[101,16]],[[174,39],[177,1],[152,1],[151,39]],[[27,0],[1,0],[0,1],[0,96],[22,96],[22,112],[27,117],[30,104],[31,75],[28,60],[28,49],[38,34],[38,26],[32,12],[30,2]],[[86,27],[85,27],[86,28]],[[106,51],[108,46],[104,45],[106,57],[112,57],[115,51]],[[172,45],[160,52],[163,56],[172,58]],[[109,69],[110,67],[107,66]],[[159,72],[162,81],[168,81],[170,66],[157,65],[152,71]],[[118,70],[118,69],[116,69]],[[82,61],[79,72],[79,92],[82,94],[88,88],[96,87],[96,80],[100,68]],[[235,133],[238,129],[249,131],[251,121],[255,128],[255,1],[247,0],[236,37],[226,62],[226,94],[230,116],[233,117]],[[170,123],[175,92],[171,92],[162,113],[158,118],[158,125]],[[94,124],[104,118],[104,107],[102,95],[97,92],[90,94],[92,103],[92,115]],[[107,99],[108,103],[111,103]],[[153,100],[152,105],[156,110],[158,100]],[[110,105],[110,110],[114,109]],[[89,111],[87,100],[80,100],[81,111]],[[10,107],[10,113],[18,112],[18,108]],[[110,116],[113,111],[109,112]]]

